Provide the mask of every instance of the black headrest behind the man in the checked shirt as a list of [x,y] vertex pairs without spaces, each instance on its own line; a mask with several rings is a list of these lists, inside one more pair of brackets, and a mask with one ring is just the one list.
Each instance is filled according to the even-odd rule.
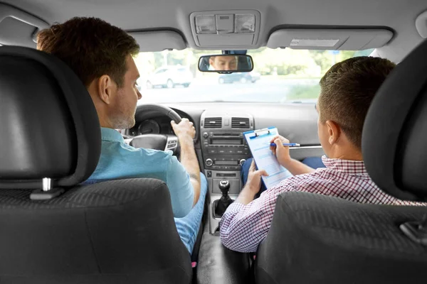
[[401,200],[427,200],[427,41],[387,77],[367,113],[362,152],[372,180]]

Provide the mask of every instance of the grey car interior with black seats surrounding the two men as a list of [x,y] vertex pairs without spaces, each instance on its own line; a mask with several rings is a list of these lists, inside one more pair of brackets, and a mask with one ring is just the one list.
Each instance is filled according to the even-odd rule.
[[[65,63],[36,50],[38,31],[75,16],[102,18],[139,43],[136,123],[117,129],[126,143],[179,158],[170,121],[194,123],[208,195],[191,256],[164,182],[81,184],[100,158],[95,107]],[[426,38],[421,0],[0,0],[0,283],[426,283],[426,207],[289,192],[256,253],[219,237],[251,158],[243,133],[275,126],[300,144],[292,158],[324,155],[318,82],[358,55],[398,64],[364,124],[368,173],[389,195],[427,201]],[[251,68],[212,72],[211,55],[242,56]],[[186,78],[149,79],[172,65]],[[249,72],[256,79],[224,79]]]

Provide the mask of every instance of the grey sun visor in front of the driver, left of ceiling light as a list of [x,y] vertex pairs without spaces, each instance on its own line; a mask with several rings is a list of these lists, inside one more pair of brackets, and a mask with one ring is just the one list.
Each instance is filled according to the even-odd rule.
[[183,50],[186,48],[186,41],[175,31],[144,31],[129,32],[139,44],[139,51],[154,52],[165,49]]

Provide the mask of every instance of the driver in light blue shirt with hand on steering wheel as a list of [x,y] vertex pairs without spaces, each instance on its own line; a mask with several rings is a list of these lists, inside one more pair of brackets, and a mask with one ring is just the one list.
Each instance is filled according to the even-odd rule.
[[[115,129],[135,125],[139,72],[132,36],[99,18],[72,18],[38,33],[37,49],[63,60],[82,80],[100,120],[102,148],[95,172],[85,183],[123,178],[166,182],[176,229],[192,253],[204,212],[207,181],[194,151],[195,129],[188,119],[171,121],[181,146],[181,162],[172,151],[134,148]],[[143,190],[143,189],[141,189]]]

